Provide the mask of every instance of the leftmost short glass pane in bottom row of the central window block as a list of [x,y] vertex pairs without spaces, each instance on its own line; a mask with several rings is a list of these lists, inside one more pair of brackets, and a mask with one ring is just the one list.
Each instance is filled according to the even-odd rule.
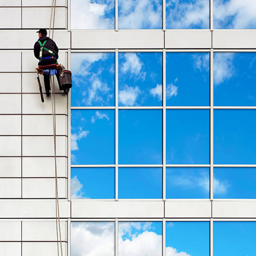
[[115,198],[115,168],[71,168],[71,198]]

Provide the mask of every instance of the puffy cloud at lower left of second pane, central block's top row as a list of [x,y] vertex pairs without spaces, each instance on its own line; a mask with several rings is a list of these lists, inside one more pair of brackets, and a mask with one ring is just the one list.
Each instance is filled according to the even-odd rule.
[[136,100],[139,95],[140,89],[138,86],[129,87],[128,85],[125,85],[122,90],[119,90],[119,102],[125,106],[134,106],[136,105]]

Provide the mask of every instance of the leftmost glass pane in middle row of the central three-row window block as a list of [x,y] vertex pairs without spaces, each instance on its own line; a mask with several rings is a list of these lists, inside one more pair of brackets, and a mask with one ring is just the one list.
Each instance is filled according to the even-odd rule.
[[115,110],[71,110],[71,164],[115,164]]

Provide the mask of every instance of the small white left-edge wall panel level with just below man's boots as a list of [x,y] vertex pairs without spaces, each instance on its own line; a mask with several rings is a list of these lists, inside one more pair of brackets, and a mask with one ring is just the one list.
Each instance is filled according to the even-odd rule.
[[0,114],[21,114],[21,95],[0,94]]

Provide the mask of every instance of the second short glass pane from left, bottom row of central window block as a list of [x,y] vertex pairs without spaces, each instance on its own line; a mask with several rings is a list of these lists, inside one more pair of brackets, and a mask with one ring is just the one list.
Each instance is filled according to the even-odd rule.
[[118,168],[118,198],[163,198],[162,168]]

